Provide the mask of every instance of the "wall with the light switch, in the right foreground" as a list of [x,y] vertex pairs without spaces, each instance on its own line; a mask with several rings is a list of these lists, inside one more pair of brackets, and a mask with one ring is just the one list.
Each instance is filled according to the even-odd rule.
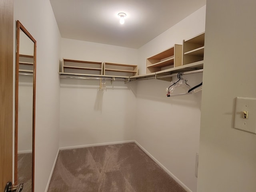
[[207,0],[198,192],[256,189],[256,135],[233,129],[235,98],[256,98],[255,7]]

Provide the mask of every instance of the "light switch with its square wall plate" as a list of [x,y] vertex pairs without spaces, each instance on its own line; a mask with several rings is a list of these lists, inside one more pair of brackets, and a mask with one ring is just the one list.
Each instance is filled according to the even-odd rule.
[[256,134],[256,98],[236,98],[235,128]]

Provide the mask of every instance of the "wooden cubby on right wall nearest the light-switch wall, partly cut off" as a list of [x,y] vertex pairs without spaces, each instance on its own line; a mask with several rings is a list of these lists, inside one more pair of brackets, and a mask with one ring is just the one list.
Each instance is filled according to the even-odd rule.
[[183,40],[182,65],[204,60],[204,33],[189,40]]

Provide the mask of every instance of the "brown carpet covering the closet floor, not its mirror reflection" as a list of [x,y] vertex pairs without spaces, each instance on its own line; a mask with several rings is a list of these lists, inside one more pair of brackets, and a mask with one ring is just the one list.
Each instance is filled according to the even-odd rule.
[[48,192],[185,192],[135,143],[60,150]]

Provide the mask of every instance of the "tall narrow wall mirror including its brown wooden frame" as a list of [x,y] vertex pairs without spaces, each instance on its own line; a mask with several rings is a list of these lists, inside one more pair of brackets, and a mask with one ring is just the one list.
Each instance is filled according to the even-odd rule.
[[16,24],[14,184],[34,192],[36,40]]

